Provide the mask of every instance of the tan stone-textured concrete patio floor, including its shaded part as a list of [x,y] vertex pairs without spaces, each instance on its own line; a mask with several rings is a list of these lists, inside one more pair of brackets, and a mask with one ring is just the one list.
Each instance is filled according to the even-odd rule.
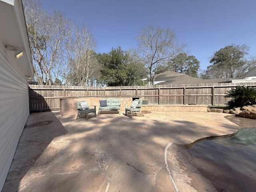
[[86,121],[60,111],[31,114],[2,192],[217,191],[180,163],[176,147],[238,131],[224,116],[152,112]]

